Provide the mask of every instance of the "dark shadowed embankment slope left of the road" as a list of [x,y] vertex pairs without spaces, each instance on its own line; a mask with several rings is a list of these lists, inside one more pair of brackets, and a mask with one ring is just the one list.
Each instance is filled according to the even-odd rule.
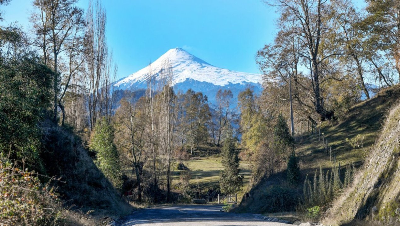
[[[82,140],[68,129],[51,123],[43,139],[42,159],[48,175],[60,178],[51,181],[71,225],[97,225],[98,218],[119,218],[133,208],[122,200],[110,181],[94,165]],[[90,220],[96,219],[96,220]]]

